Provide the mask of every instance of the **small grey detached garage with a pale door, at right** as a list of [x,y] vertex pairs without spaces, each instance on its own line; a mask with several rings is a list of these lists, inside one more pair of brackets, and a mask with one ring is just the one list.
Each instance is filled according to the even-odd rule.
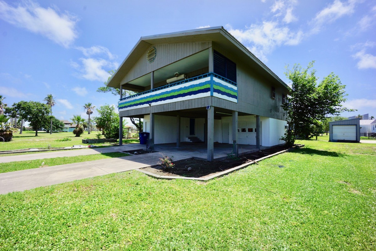
[[360,142],[359,118],[329,122],[330,142]]

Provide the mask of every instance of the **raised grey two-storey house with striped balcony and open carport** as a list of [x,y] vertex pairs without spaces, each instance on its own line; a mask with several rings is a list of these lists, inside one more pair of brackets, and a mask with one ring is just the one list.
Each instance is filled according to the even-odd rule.
[[107,86],[139,92],[119,116],[144,119],[150,148],[203,141],[212,161],[214,142],[284,143],[288,86],[223,27],[141,37]]

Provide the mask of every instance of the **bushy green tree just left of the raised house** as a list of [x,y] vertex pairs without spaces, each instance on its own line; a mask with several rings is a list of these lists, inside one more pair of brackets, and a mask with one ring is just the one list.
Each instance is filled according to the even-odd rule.
[[[115,107],[105,104],[97,109],[98,117],[94,117],[97,128],[102,129],[102,134],[106,138],[119,138],[119,115],[115,112]],[[124,121],[123,121],[124,126]]]

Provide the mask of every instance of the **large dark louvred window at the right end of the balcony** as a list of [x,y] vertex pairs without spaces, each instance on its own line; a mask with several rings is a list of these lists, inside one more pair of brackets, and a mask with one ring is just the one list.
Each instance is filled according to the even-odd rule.
[[214,51],[214,73],[236,82],[236,64],[218,51]]

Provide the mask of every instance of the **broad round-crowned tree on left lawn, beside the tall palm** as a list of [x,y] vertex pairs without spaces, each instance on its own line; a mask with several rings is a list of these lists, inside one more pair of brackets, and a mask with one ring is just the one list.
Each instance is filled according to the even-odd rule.
[[22,119],[30,122],[30,126],[35,130],[35,136],[38,136],[38,130],[49,120],[50,107],[36,101],[20,101],[14,104]]

